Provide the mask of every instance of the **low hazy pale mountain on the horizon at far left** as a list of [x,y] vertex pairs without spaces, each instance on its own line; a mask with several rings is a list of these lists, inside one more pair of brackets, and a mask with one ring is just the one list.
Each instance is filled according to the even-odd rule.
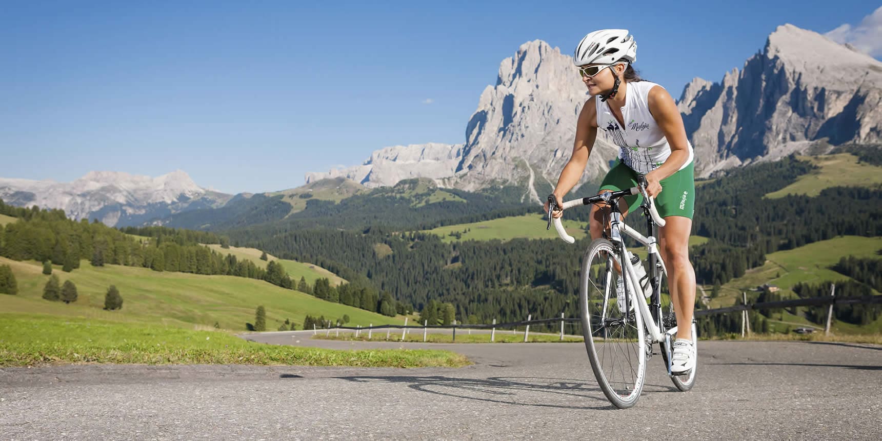
[[72,219],[116,227],[223,206],[230,198],[199,187],[181,170],[158,177],[93,171],[71,183],[0,178],[0,199],[7,204],[62,209]]

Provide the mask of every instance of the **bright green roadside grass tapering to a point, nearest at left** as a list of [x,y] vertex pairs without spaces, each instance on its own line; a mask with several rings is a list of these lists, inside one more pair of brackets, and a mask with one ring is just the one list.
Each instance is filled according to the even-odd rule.
[[155,325],[0,314],[0,367],[67,363],[280,364],[460,367],[467,359],[425,349],[331,350],[265,345],[229,333]]

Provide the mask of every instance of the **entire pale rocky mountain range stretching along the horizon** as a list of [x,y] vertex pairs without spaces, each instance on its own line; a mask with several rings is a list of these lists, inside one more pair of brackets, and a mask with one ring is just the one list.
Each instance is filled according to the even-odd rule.
[[[325,197],[312,195],[312,189],[327,187],[325,200],[340,201],[362,186],[392,187],[415,178],[457,191],[500,194],[505,189],[505,206],[514,199],[539,203],[570,158],[575,122],[588,98],[571,56],[544,41],[528,41],[499,65],[496,84],[482,92],[463,143],[385,147],[361,165],[308,173],[303,191],[234,197],[199,187],[180,170],[158,177],[90,172],[71,183],[0,178],[0,198],[15,206],[61,208],[74,219],[111,226],[192,228],[217,225],[213,213],[226,225],[240,226],[236,216],[309,217],[297,213],[311,199],[327,210],[318,204]],[[695,147],[697,176],[789,153],[879,143],[882,63],[823,35],[779,26],[742,69],[725,73],[720,82],[691,80],[677,106]],[[576,188],[598,183],[616,155],[617,147],[599,136]],[[333,182],[320,183],[329,178]],[[355,181],[355,187],[340,179]],[[340,190],[350,188],[355,190]],[[465,196],[426,191],[427,201]],[[212,212],[218,208],[224,210]]]

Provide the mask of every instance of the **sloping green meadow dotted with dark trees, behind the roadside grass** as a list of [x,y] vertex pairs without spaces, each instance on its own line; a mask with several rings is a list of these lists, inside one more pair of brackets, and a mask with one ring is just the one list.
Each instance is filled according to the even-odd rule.
[[[258,305],[266,310],[266,329],[275,331],[286,318],[300,329],[303,318],[325,316],[328,319],[350,318],[350,325],[380,325],[404,322],[377,313],[330,303],[298,291],[276,287],[263,280],[243,277],[154,272],[146,268],[106,265],[93,267],[83,260],[80,268],[64,273],[55,265],[53,273],[64,283],[77,285],[78,301],[71,304],[43,300],[42,289],[49,276],[42,274],[40,263],[17,262],[0,258],[11,265],[19,282],[19,295],[0,295],[4,312],[42,313],[63,317],[95,318],[149,325],[188,328],[211,327],[244,331],[245,323],[254,323]],[[103,310],[104,295],[116,285],[123,296],[123,309]]]

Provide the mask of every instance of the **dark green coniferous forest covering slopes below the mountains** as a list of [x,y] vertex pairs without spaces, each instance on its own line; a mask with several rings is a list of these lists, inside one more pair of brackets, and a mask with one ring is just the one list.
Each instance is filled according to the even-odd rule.
[[[854,153],[861,154],[865,161],[876,161],[877,150],[863,148]],[[794,183],[813,168],[811,163],[791,156],[736,168],[727,176],[699,186],[693,234],[709,238],[691,251],[699,283],[726,283],[763,265],[766,253],[777,250],[837,235],[882,235],[882,223],[878,222],[882,218],[882,190],[878,187],[834,187],[815,197],[764,197]],[[579,260],[590,239],[574,245],[527,239],[444,243],[438,236],[420,230],[539,213],[541,208],[515,204],[512,194],[505,191],[496,195],[498,200],[488,194],[449,191],[466,202],[440,201],[415,207],[414,197],[428,198],[430,194],[414,193],[419,188],[419,181],[411,180],[338,204],[310,200],[303,212],[288,214],[281,220],[276,218],[282,202],[273,199],[267,204],[267,199],[261,199],[245,206],[248,209],[238,214],[241,216],[237,221],[212,224],[208,227],[211,232],[164,227],[120,231],[98,223],[68,221],[57,210],[0,203],[0,213],[25,220],[4,229],[0,255],[49,260],[65,265],[65,270],[76,268],[79,258],[87,258],[93,265],[237,275],[284,288],[299,287],[331,302],[386,315],[420,310],[438,321],[443,320],[445,311],[460,323],[490,323],[494,318],[500,322],[519,321],[528,314],[534,318],[558,317],[561,312],[568,317],[578,314]],[[187,215],[203,221],[199,216],[206,213]],[[633,213],[632,219],[637,215]],[[586,218],[587,208],[568,214],[568,219]],[[243,219],[256,224],[243,227]],[[643,227],[642,222],[633,225]],[[537,221],[535,228],[545,228],[545,222]],[[145,237],[136,240],[131,235]],[[319,280],[314,287],[303,287],[273,262],[263,269],[250,261],[222,256],[199,243],[234,243],[280,258],[312,262],[349,283],[334,288],[326,285],[326,280]],[[835,269],[878,289],[878,260],[845,259]],[[812,288],[800,289],[809,292]],[[870,317],[863,310],[856,314]],[[762,317],[756,319],[761,326]],[[704,325],[705,331],[729,332],[736,322],[714,318]]]

